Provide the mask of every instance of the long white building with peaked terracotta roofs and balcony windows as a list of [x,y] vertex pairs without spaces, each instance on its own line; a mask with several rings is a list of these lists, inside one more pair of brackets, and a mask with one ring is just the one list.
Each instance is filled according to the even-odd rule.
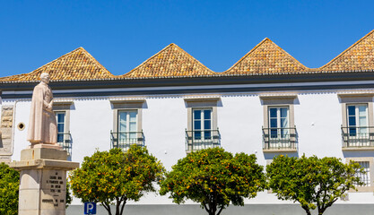
[[[189,151],[216,146],[254,153],[263,166],[280,154],[336,157],[359,162],[365,185],[326,214],[374,210],[373,31],[317,69],[303,66],[270,39],[223,73],[171,44],[133,71],[114,76],[78,48],[31,73],[0,78],[0,157],[6,161],[19,160],[29,145],[30,97],[42,72],[51,76],[58,142],[72,161],[134,143],[144,144],[168,170]],[[73,204],[69,214],[81,213],[75,206],[81,202]],[[163,214],[161,208],[204,214],[193,202],[186,208],[154,193],[128,204],[136,214]],[[267,191],[230,210],[302,214],[298,205]]]

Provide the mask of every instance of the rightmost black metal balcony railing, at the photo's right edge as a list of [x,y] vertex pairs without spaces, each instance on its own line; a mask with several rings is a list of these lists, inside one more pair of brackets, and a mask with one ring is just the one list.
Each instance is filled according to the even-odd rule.
[[373,126],[342,126],[342,147],[374,147]]

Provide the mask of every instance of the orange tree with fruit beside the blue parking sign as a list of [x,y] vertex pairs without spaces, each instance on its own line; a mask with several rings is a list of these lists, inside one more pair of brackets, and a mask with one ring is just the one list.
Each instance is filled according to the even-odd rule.
[[100,202],[112,214],[110,205],[116,205],[121,215],[128,200],[138,201],[146,192],[155,191],[154,181],[163,176],[161,162],[148,153],[145,147],[131,146],[96,151],[85,157],[82,168],[70,173],[70,186],[83,202]]

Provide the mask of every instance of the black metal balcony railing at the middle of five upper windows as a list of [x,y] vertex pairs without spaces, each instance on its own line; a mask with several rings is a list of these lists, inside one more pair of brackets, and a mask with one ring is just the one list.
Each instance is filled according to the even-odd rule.
[[204,150],[221,146],[221,133],[217,130],[186,130],[186,150]]

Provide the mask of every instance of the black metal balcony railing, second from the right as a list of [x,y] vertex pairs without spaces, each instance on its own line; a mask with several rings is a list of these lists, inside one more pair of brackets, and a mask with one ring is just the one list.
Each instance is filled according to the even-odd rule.
[[297,150],[296,127],[262,128],[264,150]]

